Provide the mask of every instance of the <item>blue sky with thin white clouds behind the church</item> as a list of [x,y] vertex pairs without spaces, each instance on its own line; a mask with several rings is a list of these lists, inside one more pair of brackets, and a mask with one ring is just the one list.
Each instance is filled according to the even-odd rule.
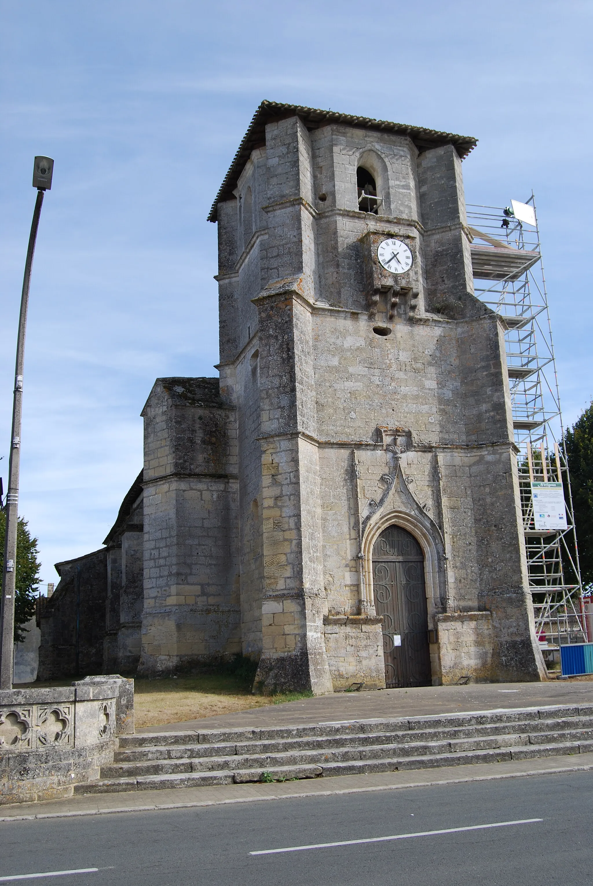
[[206,221],[262,98],[476,136],[468,202],[538,206],[568,423],[591,373],[593,4],[0,3],[0,474],[35,203],[20,513],[53,563],[101,546],[155,377],[215,375]]

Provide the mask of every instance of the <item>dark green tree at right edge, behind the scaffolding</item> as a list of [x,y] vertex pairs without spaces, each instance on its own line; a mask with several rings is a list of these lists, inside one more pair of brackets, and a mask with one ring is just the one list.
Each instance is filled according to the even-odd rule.
[[593,402],[567,429],[564,449],[573,491],[581,579],[588,587],[593,585]]

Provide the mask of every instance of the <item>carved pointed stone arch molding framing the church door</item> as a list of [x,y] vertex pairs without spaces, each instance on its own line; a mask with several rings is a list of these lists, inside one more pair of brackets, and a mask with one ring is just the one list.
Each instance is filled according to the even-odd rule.
[[[395,497],[399,498],[400,501],[394,501]],[[404,505],[403,508],[402,505]],[[408,505],[407,508],[405,507],[406,505]],[[384,507],[378,508],[368,519],[363,532],[361,545],[364,573],[363,604],[364,608],[371,608],[371,610],[374,610],[375,605],[372,580],[372,548],[381,532],[391,525],[401,526],[402,529],[406,529],[414,536],[420,548],[422,548],[425,558],[428,618],[429,623],[431,623],[435,613],[443,611],[447,596],[444,544],[438,526],[431,517],[425,514],[425,511],[411,494],[399,465],[391,494],[387,496]]]

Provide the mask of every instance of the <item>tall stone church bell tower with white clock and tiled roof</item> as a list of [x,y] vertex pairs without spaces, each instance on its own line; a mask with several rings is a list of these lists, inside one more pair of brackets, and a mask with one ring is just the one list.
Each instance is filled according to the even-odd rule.
[[264,689],[539,680],[475,141],[264,102],[210,215]]

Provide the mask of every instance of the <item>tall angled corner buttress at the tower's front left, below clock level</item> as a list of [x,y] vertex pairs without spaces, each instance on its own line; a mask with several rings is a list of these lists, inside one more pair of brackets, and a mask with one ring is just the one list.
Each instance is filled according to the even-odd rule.
[[[258,299],[262,442],[262,654],[256,685],[331,689],[308,308],[283,291]],[[278,607],[281,607],[278,610]]]

